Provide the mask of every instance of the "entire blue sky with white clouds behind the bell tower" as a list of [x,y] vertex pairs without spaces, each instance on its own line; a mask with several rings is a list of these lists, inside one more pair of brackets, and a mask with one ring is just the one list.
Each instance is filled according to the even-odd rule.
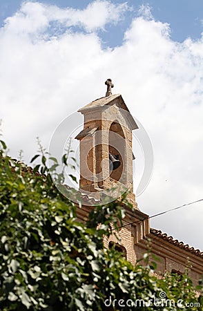
[[[61,120],[104,96],[111,77],[153,145],[139,209],[153,215],[203,198],[202,0],[1,0],[0,26],[1,128],[11,156],[23,149],[28,163],[36,137],[48,147]],[[202,202],[151,220],[203,250],[202,223]]]

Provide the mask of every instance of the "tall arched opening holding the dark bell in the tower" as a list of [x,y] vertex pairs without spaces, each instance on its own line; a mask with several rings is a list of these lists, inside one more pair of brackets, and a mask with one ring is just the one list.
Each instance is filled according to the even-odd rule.
[[108,152],[110,160],[110,178],[124,182],[125,146],[124,131],[119,122],[110,124],[108,134]]

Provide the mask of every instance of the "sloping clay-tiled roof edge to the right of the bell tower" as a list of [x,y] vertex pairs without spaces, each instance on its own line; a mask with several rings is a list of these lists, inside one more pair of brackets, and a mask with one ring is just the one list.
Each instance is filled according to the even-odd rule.
[[171,243],[177,247],[180,247],[186,250],[187,252],[191,252],[192,254],[203,258],[203,252],[201,252],[200,249],[195,249],[194,247],[189,246],[189,244],[184,244],[184,242],[182,241],[175,240],[173,236],[168,236],[166,233],[163,233],[161,230],[151,228],[150,233],[154,234],[155,236],[158,236],[159,238],[162,238],[168,243]]

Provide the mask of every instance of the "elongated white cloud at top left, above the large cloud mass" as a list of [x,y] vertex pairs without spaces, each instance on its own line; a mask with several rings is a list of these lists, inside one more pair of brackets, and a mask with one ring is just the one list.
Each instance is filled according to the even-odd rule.
[[127,3],[117,6],[110,1],[93,1],[84,10],[46,6],[38,2],[24,2],[20,10],[6,19],[6,30],[18,35],[45,32],[51,23],[56,28],[79,26],[88,32],[105,28],[108,23],[118,23],[128,10]]

